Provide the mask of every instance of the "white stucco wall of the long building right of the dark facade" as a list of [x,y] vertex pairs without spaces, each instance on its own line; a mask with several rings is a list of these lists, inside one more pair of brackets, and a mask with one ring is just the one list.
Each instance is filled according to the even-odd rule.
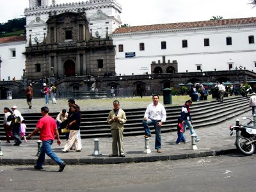
[[[165,33],[116,34],[112,38],[116,45],[116,73],[131,75],[151,73],[150,64],[158,60],[166,63],[177,60],[178,72],[195,72],[196,64],[202,70],[228,70],[228,63],[233,68],[246,67],[256,71],[256,45],[249,44],[248,36],[256,38],[256,27],[236,27],[202,29],[189,31],[168,31]],[[226,44],[226,38],[232,37],[232,45]],[[204,46],[204,38],[209,38],[210,46]],[[188,48],[182,48],[182,40],[188,40]],[[256,40],[256,39],[255,39]],[[166,42],[166,49],[161,49],[161,42]],[[145,44],[145,51],[140,51],[140,43]],[[118,45],[124,45],[124,52],[118,52]],[[125,58],[125,52],[136,52],[136,57]]]

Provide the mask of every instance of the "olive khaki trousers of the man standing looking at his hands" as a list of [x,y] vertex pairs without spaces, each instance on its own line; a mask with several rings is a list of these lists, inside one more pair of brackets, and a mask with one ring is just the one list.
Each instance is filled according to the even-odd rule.
[[111,134],[112,134],[112,154],[114,156],[117,156],[118,149],[119,149],[119,155],[124,155],[123,131],[119,129],[112,129]]

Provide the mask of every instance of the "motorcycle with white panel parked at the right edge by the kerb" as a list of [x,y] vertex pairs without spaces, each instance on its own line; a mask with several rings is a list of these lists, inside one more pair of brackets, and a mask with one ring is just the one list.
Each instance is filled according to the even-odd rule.
[[[243,117],[243,119],[247,118]],[[250,118],[248,119],[250,122],[245,125],[239,124],[239,120],[236,120],[236,125],[229,127],[230,136],[232,136],[233,131],[236,130],[236,147],[246,156],[253,154],[256,143],[256,121]]]

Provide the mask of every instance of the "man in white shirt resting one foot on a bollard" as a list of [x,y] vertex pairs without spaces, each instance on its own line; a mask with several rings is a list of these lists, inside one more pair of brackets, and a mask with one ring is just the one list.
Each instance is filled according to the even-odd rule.
[[153,102],[148,105],[143,118],[143,127],[145,131],[145,138],[151,136],[149,125],[154,125],[156,131],[155,148],[157,152],[161,153],[161,127],[166,120],[166,111],[164,106],[159,103],[159,96],[152,96]]

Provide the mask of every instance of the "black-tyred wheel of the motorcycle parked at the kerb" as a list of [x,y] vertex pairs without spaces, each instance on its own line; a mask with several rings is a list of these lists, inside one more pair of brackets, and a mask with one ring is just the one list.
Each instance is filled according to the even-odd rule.
[[246,143],[250,141],[251,140],[249,138],[244,138],[244,136],[239,136],[236,140],[236,147],[241,150],[241,152],[246,156],[252,155],[255,150],[255,146],[253,143],[251,143],[250,145],[246,145]]

